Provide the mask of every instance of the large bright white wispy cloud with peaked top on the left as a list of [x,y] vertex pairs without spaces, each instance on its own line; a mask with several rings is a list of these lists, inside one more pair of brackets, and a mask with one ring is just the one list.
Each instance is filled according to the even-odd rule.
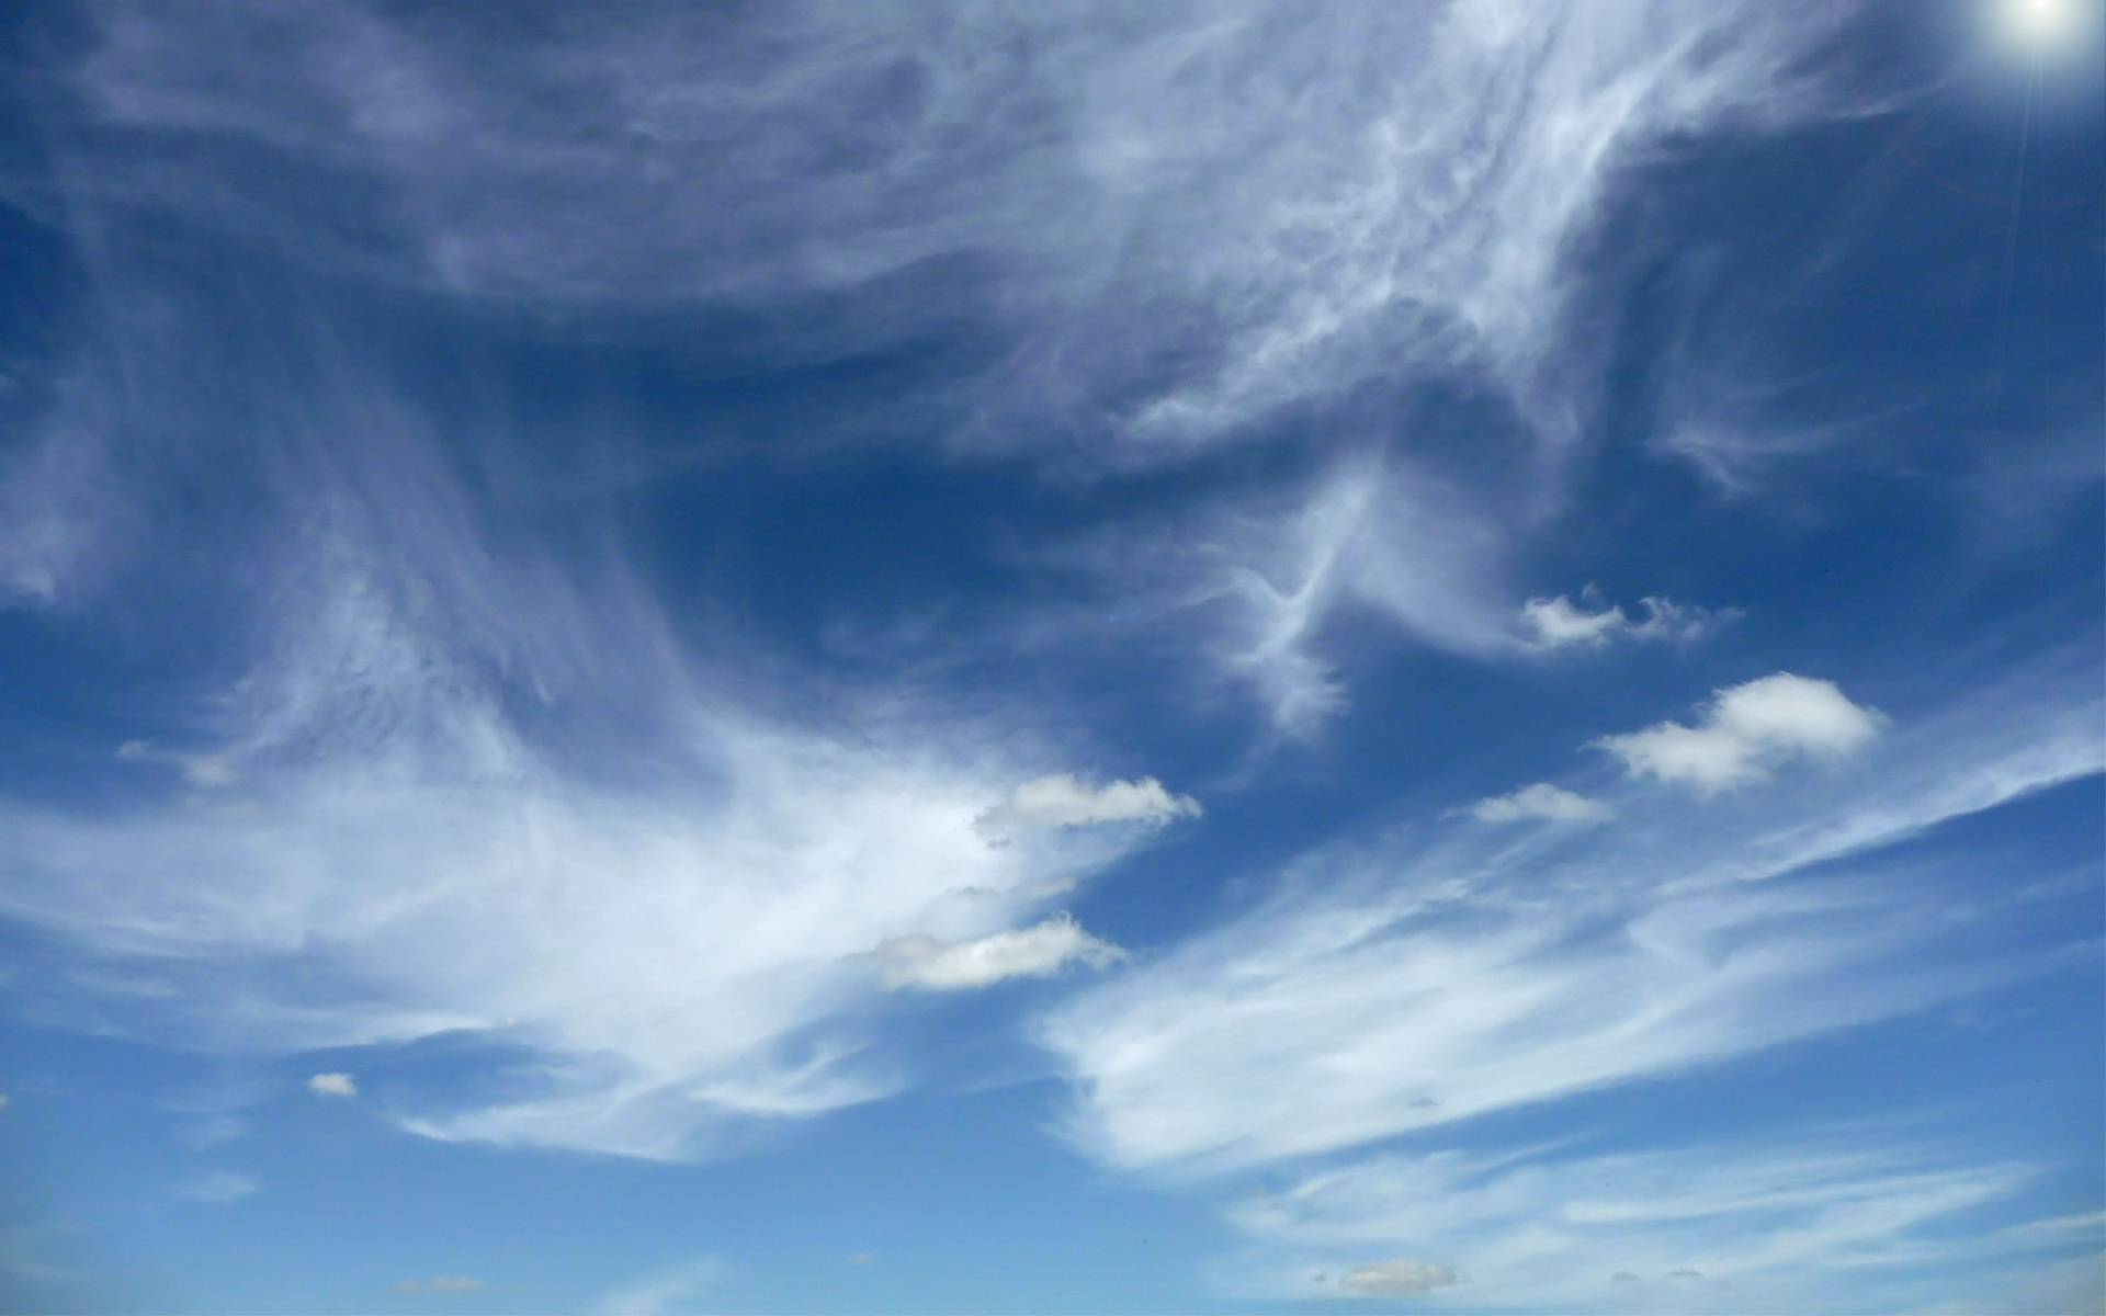
[[[990,844],[973,823],[1009,754],[1036,758],[1026,726],[876,701],[838,739],[760,724],[619,577],[588,604],[451,533],[434,516],[396,545],[461,573],[446,609],[390,585],[377,543],[297,562],[280,642],[221,701],[242,785],[118,815],[0,802],[0,910],[120,966],[67,979],[76,1021],[267,1053],[489,1030],[535,1057],[524,1080],[470,1108],[404,1093],[409,1129],[699,1156],[901,1082],[845,1021],[878,990],[870,948],[1013,929],[1144,840]],[[649,710],[659,739],[581,737],[562,766],[476,674],[495,661],[463,613],[571,707]],[[653,773],[594,775],[598,752]],[[1152,781],[1099,806],[1188,809]]]

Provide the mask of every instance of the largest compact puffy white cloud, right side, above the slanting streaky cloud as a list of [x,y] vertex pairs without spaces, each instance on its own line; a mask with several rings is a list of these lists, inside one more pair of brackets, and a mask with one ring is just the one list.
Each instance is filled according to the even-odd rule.
[[1879,735],[1887,716],[1851,703],[1830,680],[1777,672],[1718,691],[1695,726],[1662,722],[1605,735],[1601,750],[1630,775],[1689,783],[1716,794],[1769,777],[1792,758],[1841,758]]

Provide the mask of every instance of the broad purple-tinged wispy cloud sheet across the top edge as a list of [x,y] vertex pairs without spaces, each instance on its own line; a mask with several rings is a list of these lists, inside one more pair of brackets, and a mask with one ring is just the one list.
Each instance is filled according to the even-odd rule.
[[[1527,21],[1497,2],[792,6],[708,25],[638,6],[560,44],[352,4],[232,6],[204,27],[131,4],[101,38],[82,91],[107,122],[371,179],[385,200],[364,219],[406,263],[333,246],[297,223],[297,185],[244,179],[246,223],[276,221],[310,261],[659,303],[992,253],[1007,284],[986,301],[1021,339],[1005,402],[1112,413],[1150,448],[1400,358],[1525,381],[1567,240],[1615,171],[1668,135],[1807,112],[1792,61],[1813,40],[1773,6],[1674,2]],[[213,194],[103,181],[128,202],[156,185],[164,206]],[[1179,350],[1192,364],[1165,381]]]

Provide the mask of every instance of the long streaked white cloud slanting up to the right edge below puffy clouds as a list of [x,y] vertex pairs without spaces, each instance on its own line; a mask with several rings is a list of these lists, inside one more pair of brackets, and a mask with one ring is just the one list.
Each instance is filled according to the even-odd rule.
[[1072,1135],[1131,1169],[1266,1164],[2020,973],[1940,950],[1969,886],[1834,861],[2098,773],[2087,682],[2083,663],[2013,676],[1925,716],[1847,783],[1780,783],[1735,811],[1632,785],[1607,800],[1626,828],[1403,830],[1306,855],[1274,899],[1040,1021],[1076,1082]]

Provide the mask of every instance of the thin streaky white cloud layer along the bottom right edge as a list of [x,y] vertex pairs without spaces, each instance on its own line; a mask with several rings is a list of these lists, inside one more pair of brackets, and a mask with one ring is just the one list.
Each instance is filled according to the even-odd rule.
[[[1996,1261],[2060,1242],[1948,1228],[1959,1213],[2009,1209],[2034,1177],[1866,1126],[1615,1154],[1367,1156],[1238,1194],[1224,1213],[1289,1270],[1398,1240],[1438,1249],[1487,1308],[1786,1312],[1811,1297],[1815,1310],[1916,1310],[1950,1295],[1954,1276],[1980,1284]],[[1615,1274],[1647,1289],[1605,1293]]]

